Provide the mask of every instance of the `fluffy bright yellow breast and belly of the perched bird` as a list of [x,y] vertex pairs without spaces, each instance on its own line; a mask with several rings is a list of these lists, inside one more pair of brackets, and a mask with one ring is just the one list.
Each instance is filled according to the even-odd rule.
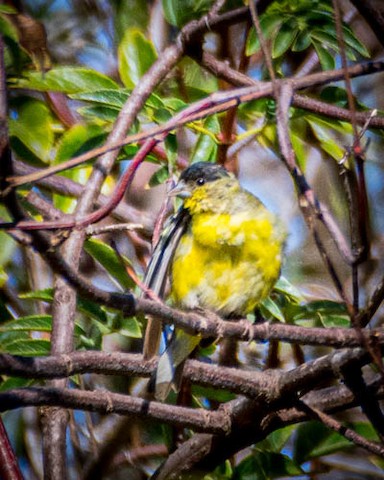
[[274,215],[248,192],[237,191],[236,204],[223,199],[215,208],[201,208],[204,193],[189,201],[191,224],[172,263],[172,299],[183,308],[245,315],[279,276],[284,235]]

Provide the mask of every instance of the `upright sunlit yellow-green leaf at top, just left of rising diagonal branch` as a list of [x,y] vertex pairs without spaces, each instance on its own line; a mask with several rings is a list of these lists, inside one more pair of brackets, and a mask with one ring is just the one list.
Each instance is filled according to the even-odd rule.
[[124,85],[134,88],[157,58],[155,47],[138,28],[129,28],[118,47],[119,73]]

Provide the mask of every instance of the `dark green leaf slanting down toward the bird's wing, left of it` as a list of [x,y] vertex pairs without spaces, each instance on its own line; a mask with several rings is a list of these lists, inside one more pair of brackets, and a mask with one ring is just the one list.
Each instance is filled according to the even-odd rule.
[[[124,265],[122,265],[120,257],[109,245],[100,240],[90,239],[85,242],[84,248],[91,257],[95,258],[106,269],[113,279],[117,280],[118,285],[123,290],[135,286]],[[124,257],[124,260],[129,264],[127,258]]]

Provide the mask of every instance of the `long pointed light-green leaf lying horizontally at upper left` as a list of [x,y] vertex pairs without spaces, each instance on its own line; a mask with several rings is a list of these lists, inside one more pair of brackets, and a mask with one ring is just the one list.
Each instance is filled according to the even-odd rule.
[[13,86],[41,92],[63,93],[118,88],[117,83],[111,78],[84,67],[56,67],[44,75],[40,72],[25,72],[24,78],[16,79]]

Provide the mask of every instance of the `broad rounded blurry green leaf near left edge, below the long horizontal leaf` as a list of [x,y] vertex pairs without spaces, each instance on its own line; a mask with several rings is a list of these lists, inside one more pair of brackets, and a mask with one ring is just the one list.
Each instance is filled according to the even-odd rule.
[[53,119],[48,107],[28,98],[18,106],[16,115],[16,119],[9,120],[10,137],[18,138],[38,159],[48,163],[54,140]]

